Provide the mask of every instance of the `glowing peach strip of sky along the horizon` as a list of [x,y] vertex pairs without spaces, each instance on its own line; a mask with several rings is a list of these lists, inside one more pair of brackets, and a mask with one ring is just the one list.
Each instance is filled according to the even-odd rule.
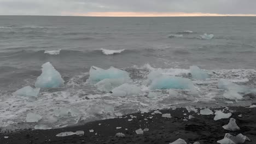
[[160,13],[160,12],[89,12],[68,13],[62,16],[98,16],[98,17],[182,17],[182,16],[256,16],[256,14],[213,14],[213,13]]

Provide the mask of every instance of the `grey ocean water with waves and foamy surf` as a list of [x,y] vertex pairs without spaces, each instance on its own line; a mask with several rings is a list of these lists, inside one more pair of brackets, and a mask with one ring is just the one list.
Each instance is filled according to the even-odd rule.
[[[117,104],[109,102],[113,100],[111,97],[106,96],[105,99],[91,95],[92,101],[86,102],[83,95],[98,94],[94,92],[94,88],[83,84],[88,77],[85,73],[92,65],[125,69],[131,73],[135,83],[139,82],[140,78],[136,80],[137,77],[147,74],[147,69],[143,67],[145,64],[169,72],[170,69],[184,71],[191,65],[198,65],[202,69],[215,71],[217,75],[213,76],[213,79],[246,81],[242,85],[255,87],[255,29],[256,17],[0,16],[2,126],[24,122],[28,111],[39,112],[48,117],[49,111],[56,107],[68,105],[80,111],[85,110],[86,113],[92,103],[108,103],[119,107],[114,112],[124,112],[135,106],[133,104],[136,101],[143,101],[134,98],[135,101],[128,105],[120,102],[124,101],[120,99]],[[214,38],[199,39],[199,35],[204,33],[214,34]],[[170,34],[183,34],[183,37],[169,38]],[[59,55],[44,53],[45,50],[59,49]],[[104,55],[101,49],[125,51]],[[43,91],[43,96],[37,100],[12,96],[11,93],[17,89],[34,85],[41,73],[41,65],[45,62],[54,65],[67,87]],[[70,83],[72,86],[68,85]],[[212,83],[206,87],[199,86],[201,95],[214,91],[216,83]],[[59,94],[60,97],[53,96],[53,93]],[[166,99],[161,98],[152,103],[144,102],[153,105],[153,108],[165,107],[161,107],[161,101]],[[46,110],[46,107],[49,110]],[[91,118],[87,116],[84,119]],[[69,121],[70,119],[63,123]]]

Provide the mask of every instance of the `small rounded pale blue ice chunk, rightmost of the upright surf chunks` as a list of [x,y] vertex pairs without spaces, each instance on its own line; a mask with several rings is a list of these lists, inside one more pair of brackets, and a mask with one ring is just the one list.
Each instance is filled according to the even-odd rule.
[[208,75],[206,73],[206,71],[200,69],[196,65],[193,65],[190,67],[190,73],[191,73],[193,79],[205,80],[207,78],[210,78],[210,75]]

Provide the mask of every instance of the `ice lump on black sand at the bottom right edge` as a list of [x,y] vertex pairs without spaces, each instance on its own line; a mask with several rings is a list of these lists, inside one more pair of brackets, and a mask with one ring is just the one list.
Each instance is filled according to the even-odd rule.
[[242,144],[245,141],[251,141],[247,136],[238,134],[236,136],[232,136],[229,133],[226,133],[224,139],[217,141],[220,144]]

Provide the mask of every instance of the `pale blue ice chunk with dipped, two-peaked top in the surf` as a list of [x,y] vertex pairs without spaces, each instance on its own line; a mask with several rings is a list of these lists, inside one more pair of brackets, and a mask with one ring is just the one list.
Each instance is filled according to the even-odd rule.
[[122,79],[122,81],[130,81],[129,73],[114,67],[110,67],[109,69],[105,70],[92,66],[89,74],[90,77],[86,82],[91,84],[96,84],[104,79]]

